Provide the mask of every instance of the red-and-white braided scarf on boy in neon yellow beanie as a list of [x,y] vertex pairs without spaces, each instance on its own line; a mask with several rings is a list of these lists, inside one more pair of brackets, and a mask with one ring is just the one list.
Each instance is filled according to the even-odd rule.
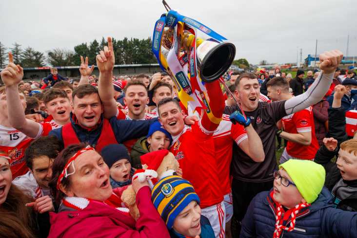
[[[291,232],[295,228],[295,223],[296,223],[296,216],[300,212],[301,209],[310,206],[309,203],[307,202],[301,202],[298,205],[296,205],[294,208],[289,209],[286,211],[286,214],[291,214],[290,217],[287,217],[284,219],[284,208],[280,203],[274,200],[273,198],[273,191],[270,193],[270,197],[273,199],[273,201],[276,204],[276,223],[275,223],[275,230],[273,234],[273,238],[279,238],[281,235],[281,232],[283,230],[287,232]],[[289,220],[291,218],[290,226],[284,226],[283,222]],[[288,224],[288,223],[287,223]]]

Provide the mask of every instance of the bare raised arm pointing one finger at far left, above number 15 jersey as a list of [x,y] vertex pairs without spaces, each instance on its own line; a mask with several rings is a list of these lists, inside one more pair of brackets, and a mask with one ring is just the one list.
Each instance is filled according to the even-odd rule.
[[[25,118],[25,109],[21,104],[19,83],[23,77],[23,69],[20,65],[13,63],[13,56],[9,53],[9,64],[1,71],[1,79],[6,88],[6,100],[9,122],[12,127],[20,130],[31,138],[36,138],[40,132],[41,125]],[[22,100],[25,100],[23,97]]]

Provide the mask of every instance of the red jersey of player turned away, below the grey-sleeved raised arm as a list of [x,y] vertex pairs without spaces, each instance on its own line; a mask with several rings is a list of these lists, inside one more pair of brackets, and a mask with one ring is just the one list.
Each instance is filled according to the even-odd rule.
[[312,160],[318,150],[318,143],[315,136],[315,124],[312,107],[287,115],[281,119],[284,131],[297,134],[298,132],[311,132],[310,146],[303,146],[298,143],[288,141],[286,151],[290,156]]

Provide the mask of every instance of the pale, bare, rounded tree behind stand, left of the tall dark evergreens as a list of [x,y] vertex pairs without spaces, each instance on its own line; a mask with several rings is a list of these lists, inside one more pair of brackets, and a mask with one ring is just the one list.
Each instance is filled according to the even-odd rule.
[[[47,62],[52,66],[75,66],[75,53],[65,49],[53,49],[47,52]],[[80,62],[80,60],[79,60]]]

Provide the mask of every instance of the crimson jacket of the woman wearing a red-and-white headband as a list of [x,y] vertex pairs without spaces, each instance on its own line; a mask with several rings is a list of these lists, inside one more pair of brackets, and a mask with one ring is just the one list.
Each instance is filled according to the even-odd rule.
[[101,202],[91,201],[82,210],[51,213],[48,238],[170,238],[164,221],[151,201],[148,186],[137,193],[140,218]]

